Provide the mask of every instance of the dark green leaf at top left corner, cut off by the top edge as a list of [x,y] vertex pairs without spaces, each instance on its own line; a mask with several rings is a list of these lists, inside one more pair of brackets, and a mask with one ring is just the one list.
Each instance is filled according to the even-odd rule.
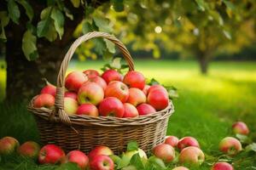
[[8,1],[8,12],[9,12],[9,18],[15,22],[15,24],[19,24],[20,19],[20,9],[15,3],[15,0],[9,0]]

